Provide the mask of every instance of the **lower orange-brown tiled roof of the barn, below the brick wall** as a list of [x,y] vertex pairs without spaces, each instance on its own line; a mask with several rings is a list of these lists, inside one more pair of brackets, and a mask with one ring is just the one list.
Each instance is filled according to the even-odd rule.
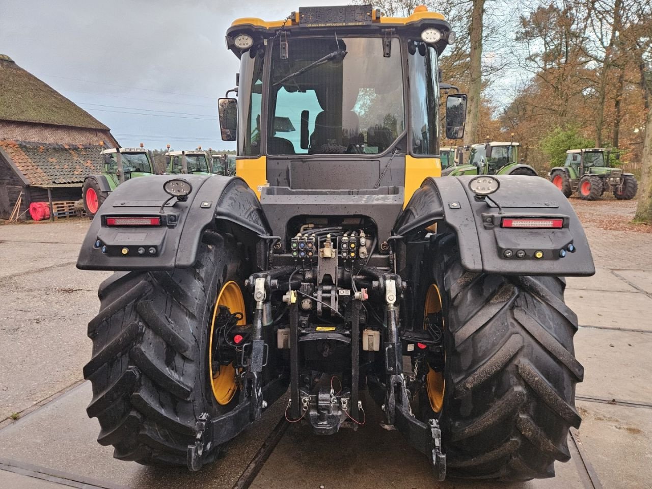
[[24,175],[29,185],[81,185],[85,175],[102,170],[102,155],[97,145],[0,140],[0,150],[0,156],[8,156],[8,163]]

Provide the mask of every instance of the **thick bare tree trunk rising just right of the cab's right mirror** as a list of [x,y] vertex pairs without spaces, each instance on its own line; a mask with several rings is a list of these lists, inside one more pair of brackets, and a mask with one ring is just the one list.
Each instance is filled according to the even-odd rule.
[[482,92],[482,17],[484,16],[484,0],[473,0],[471,12],[471,63],[469,67],[469,99],[467,102],[466,132],[464,144],[479,143],[478,134],[480,119],[480,102]]

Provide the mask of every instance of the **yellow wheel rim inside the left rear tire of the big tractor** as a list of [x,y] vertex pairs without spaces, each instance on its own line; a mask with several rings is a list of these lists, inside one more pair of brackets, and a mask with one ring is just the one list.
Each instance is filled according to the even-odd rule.
[[211,374],[211,388],[218,404],[226,406],[226,404],[231,402],[233,396],[235,396],[235,392],[238,390],[238,383],[235,378],[236,372],[233,363],[220,365],[219,370],[216,372],[213,370],[213,333],[215,331],[215,319],[220,312],[220,306],[228,307],[231,314],[241,312],[243,317],[237,322],[237,325],[246,325],[243,293],[238,284],[233,282],[233,280],[226,282],[217,295],[213,320],[211,321],[211,330],[209,331],[208,364]]

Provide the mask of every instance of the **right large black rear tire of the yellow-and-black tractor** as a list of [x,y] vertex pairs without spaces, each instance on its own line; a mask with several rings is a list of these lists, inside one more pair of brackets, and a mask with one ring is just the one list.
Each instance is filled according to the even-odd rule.
[[569,427],[580,426],[574,396],[584,376],[574,358],[577,317],[563,301],[563,278],[469,273],[454,237],[433,247],[445,383],[441,413],[426,417],[440,419],[449,473],[554,477],[555,460],[570,458]]

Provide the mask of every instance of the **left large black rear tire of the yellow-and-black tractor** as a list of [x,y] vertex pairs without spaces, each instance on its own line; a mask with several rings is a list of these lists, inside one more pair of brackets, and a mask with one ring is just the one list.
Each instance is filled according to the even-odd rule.
[[[115,458],[185,466],[198,417],[237,405],[237,396],[220,404],[214,394],[209,331],[216,297],[225,284],[242,287],[244,263],[230,235],[207,231],[194,267],[115,273],[100,286],[100,312],[88,325],[87,414]],[[219,451],[204,451],[203,463]]]

